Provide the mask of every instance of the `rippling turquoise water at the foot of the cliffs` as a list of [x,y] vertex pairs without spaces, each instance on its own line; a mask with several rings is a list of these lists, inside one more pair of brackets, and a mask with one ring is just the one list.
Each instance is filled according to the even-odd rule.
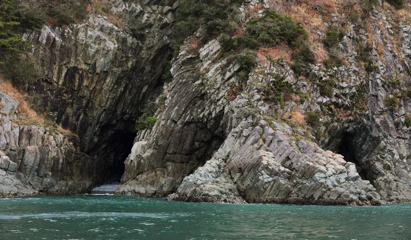
[[324,207],[125,196],[0,199],[0,239],[411,239],[411,205]]

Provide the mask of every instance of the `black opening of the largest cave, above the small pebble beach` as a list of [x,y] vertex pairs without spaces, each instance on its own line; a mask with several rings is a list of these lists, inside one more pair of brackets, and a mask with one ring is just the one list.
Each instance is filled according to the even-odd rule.
[[106,164],[105,183],[120,182],[125,171],[124,161],[130,154],[136,133],[116,132],[110,137],[110,141],[105,147],[108,153],[108,164]]

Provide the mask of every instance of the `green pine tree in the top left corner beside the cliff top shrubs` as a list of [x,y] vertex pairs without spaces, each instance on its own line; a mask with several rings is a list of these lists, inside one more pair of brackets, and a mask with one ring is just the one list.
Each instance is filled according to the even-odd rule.
[[16,2],[2,0],[0,2],[0,65],[13,53],[21,52],[23,41],[15,33],[15,28],[20,25],[16,11]]

